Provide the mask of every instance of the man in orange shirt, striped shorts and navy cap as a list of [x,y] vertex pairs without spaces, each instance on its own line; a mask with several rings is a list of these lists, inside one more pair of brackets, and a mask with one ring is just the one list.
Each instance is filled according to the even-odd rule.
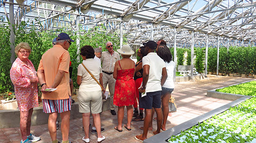
[[74,40],[66,33],[60,33],[56,37],[53,48],[47,50],[38,66],[38,80],[42,90],[57,88],[53,92],[42,91],[43,112],[49,113],[48,130],[52,143],[58,143],[56,138],[56,120],[58,112],[61,114],[62,143],[69,143],[69,118],[71,110],[71,93],[69,86],[69,62],[68,48]]

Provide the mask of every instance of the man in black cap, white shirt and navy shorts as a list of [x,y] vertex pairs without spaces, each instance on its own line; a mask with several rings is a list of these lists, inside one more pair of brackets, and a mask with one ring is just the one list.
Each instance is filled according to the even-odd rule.
[[[136,140],[142,141],[147,139],[149,123],[152,120],[152,108],[155,109],[157,117],[157,130],[152,133],[160,133],[162,125],[162,110],[161,110],[161,91],[162,85],[167,79],[167,71],[165,63],[156,53],[155,49],[157,44],[154,41],[148,41],[143,43],[145,46],[145,52],[147,56],[142,58],[143,67],[143,81],[142,86],[139,89],[142,94],[140,100],[140,107],[145,109],[145,119],[143,134],[135,136]],[[161,79],[162,77],[162,79]]]

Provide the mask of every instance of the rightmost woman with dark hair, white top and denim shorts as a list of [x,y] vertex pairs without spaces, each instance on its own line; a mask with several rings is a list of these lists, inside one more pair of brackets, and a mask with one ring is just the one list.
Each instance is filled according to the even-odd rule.
[[175,63],[172,60],[172,54],[169,50],[169,48],[166,45],[159,45],[156,48],[156,53],[158,56],[160,56],[163,61],[165,62],[165,67],[167,71],[167,79],[162,86],[162,111],[163,111],[163,122],[161,129],[163,131],[166,130],[166,121],[168,118],[168,113],[169,113],[169,107],[168,107],[168,101],[170,99],[171,93],[174,90],[174,68],[175,68]]

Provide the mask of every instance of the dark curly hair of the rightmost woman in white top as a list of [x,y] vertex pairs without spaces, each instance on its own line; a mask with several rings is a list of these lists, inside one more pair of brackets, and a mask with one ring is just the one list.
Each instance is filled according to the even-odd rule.
[[172,61],[172,53],[166,45],[157,46],[157,55],[160,56],[164,62]]

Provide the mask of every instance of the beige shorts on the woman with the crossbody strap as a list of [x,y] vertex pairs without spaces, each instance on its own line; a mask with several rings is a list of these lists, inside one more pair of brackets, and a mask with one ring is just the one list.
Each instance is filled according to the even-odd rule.
[[80,113],[97,114],[102,112],[102,95],[101,91],[79,92],[77,97]]

